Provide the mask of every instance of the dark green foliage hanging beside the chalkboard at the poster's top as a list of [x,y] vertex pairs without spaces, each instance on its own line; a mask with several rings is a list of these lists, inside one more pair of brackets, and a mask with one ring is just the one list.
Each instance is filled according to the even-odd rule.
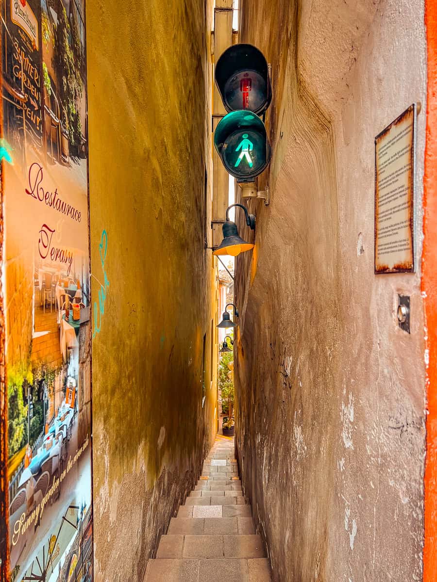
[[77,26],[70,26],[62,2],[58,2],[58,24],[54,38],[54,68],[59,80],[59,97],[61,98],[61,120],[68,132],[71,145],[78,146],[82,137],[82,125],[78,104],[82,97],[83,57]]

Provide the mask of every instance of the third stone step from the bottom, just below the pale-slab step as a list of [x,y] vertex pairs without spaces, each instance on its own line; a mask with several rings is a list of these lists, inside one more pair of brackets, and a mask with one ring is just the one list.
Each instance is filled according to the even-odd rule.
[[168,534],[255,534],[252,517],[172,517]]

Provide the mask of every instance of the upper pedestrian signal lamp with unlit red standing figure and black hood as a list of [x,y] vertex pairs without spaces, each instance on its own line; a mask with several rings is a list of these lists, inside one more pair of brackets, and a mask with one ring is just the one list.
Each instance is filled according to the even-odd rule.
[[249,109],[262,115],[272,101],[269,66],[251,44],[235,44],[217,61],[215,79],[226,111]]

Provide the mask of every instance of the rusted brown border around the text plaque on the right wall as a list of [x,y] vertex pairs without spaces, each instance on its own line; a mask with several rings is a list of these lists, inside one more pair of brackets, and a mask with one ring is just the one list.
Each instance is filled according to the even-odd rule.
[[[379,192],[378,192],[378,158],[377,149],[379,142],[390,132],[392,127],[399,125],[408,116],[411,116],[413,127],[411,129],[411,145],[410,145],[410,176],[408,182],[410,183],[410,189],[408,192],[408,230],[410,233],[411,241],[411,260],[408,262],[400,262],[395,264],[392,268],[389,265],[378,265],[378,215],[379,215]],[[382,132],[380,132],[375,137],[375,274],[390,274],[390,273],[414,273],[415,272],[415,237],[414,237],[414,184],[415,184],[415,147],[416,147],[416,132],[417,132],[417,104],[413,103],[401,113],[401,115],[394,119],[389,126],[387,126]]]

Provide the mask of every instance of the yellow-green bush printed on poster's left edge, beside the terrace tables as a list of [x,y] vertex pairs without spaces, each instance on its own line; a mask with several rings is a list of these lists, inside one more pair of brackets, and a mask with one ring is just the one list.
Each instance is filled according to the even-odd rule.
[[27,437],[27,406],[24,406],[23,385],[33,382],[30,361],[8,369],[8,448],[9,457],[23,448]]

